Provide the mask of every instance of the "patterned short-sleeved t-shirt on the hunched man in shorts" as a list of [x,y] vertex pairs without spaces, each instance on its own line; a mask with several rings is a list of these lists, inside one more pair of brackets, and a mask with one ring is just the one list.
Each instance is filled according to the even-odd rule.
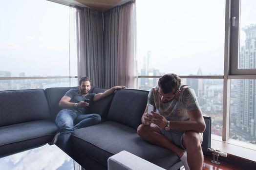
[[148,96],[148,103],[157,108],[159,113],[168,120],[189,120],[188,111],[200,108],[194,90],[189,86],[180,89],[179,96],[163,103],[158,93],[158,86],[153,87]]

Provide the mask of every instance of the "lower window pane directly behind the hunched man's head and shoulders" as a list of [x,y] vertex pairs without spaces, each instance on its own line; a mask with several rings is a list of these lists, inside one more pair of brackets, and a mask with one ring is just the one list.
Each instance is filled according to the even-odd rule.
[[[158,78],[140,78],[140,89],[150,90],[156,86]],[[212,118],[212,133],[222,136],[223,80],[183,78],[182,84],[191,86],[197,96],[204,116]]]

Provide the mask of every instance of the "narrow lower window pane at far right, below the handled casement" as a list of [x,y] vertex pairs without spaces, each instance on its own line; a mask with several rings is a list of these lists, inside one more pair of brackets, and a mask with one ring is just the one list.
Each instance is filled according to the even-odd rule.
[[230,132],[232,139],[256,144],[256,81],[231,81]]

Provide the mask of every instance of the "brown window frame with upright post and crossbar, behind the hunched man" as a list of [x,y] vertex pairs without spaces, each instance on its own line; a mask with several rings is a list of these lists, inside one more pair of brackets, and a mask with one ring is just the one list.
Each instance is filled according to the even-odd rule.
[[[256,69],[238,69],[238,56],[240,52],[240,4],[241,0],[226,0],[225,7],[225,43],[224,43],[224,75],[223,76],[180,76],[190,79],[223,79],[223,128],[222,141],[234,143],[229,140],[230,130],[230,93],[232,79],[256,79]],[[235,26],[232,26],[232,17],[236,17]],[[138,78],[159,78],[161,76],[140,75]],[[213,135],[215,136],[215,135]],[[214,138],[214,137],[213,137]],[[216,137],[215,137],[216,138]],[[236,141],[243,143],[241,141]],[[256,148],[256,147],[250,147]]]

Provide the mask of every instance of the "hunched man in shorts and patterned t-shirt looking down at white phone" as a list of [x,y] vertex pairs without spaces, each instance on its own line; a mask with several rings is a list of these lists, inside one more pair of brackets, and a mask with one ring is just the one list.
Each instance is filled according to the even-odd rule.
[[[150,114],[151,105],[154,111]],[[139,136],[176,153],[186,170],[202,170],[205,122],[194,90],[181,86],[179,76],[165,74],[159,79],[158,86],[149,92],[141,120]]]

